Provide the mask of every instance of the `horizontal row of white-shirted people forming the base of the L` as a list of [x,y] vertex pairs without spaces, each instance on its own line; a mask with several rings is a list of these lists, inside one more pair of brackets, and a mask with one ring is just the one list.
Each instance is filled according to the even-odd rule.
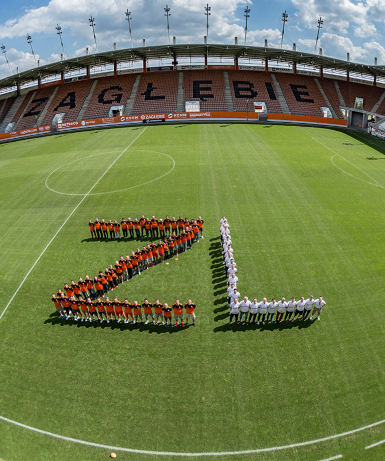
[[[233,319],[236,323],[241,323],[243,317],[245,317],[245,323],[255,324],[257,320],[257,325],[259,325],[260,321],[262,321],[262,325],[265,325],[265,318],[266,322],[270,323],[294,322],[297,319],[312,320],[314,315],[317,320],[320,320],[322,308],[326,306],[326,302],[323,300],[322,296],[318,299],[309,296],[306,300],[302,296],[299,301],[296,301],[295,297],[293,297],[289,302],[286,302],[285,298],[282,298],[279,302],[273,298],[270,303],[267,302],[266,298],[263,298],[259,303],[257,298],[250,301],[247,296],[240,302],[240,294],[236,287],[233,287],[232,291],[230,288],[228,292],[231,299],[230,325],[233,323]],[[310,314],[311,310],[313,311]],[[277,315],[274,320],[275,313],[277,313]],[[283,318],[284,315],[285,317]],[[293,318],[291,318],[292,316]]]

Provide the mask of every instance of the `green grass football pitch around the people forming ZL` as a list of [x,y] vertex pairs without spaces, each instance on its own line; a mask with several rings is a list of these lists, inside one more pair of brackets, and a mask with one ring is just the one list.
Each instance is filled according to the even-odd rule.
[[[385,459],[365,448],[385,439],[383,141],[94,130],[1,144],[0,181],[1,460]],[[197,327],[59,320],[52,293],[147,243],[91,239],[88,220],[142,214],[202,216],[205,238],[113,294],[191,298]],[[323,296],[320,321],[228,325],[222,215],[241,296]]]

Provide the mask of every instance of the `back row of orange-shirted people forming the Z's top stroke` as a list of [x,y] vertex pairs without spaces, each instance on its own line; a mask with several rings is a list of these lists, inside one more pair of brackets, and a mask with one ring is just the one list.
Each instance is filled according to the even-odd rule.
[[[123,238],[128,237],[136,240],[146,236],[146,238],[151,237],[152,239],[163,239],[167,235],[170,236],[172,233],[181,233],[183,230],[190,229],[194,234],[194,240],[198,241],[199,238],[203,239],[203,219],[201,216],[198,219],[184,219],[179,216],[177,219],[172,217],[170,219],[166,216],[164,219],[156,219],[155,216],[151,218],[144,217],[144,214],[137,219],[127,219],[122,218],[121,221],[109,219],[101,221],[96,218],[95,221],[91,219],[88,221],[88,226],[90,228],[91,237],[99,239],[121,239],[123,233]],[[109,233],[109,235],[108,235]],[[135,236],[135,237],[134,237]]]

